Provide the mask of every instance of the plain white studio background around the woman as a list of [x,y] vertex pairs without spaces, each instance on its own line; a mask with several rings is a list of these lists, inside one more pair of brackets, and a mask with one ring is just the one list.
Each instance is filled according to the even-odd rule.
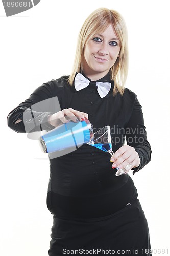
[[170,254],[168,2],[41,0],[11,17],[0,3],[2,256],[47,256],[53,221],[46,208],[47,156],[37,141],[7,127],[7,115],[42,83],[70,74],[78,32],[99,7],[117,10],[127,23],[126,87],[142,105],[153,151],[152,161],[131,177],[148,220],[153,255]]

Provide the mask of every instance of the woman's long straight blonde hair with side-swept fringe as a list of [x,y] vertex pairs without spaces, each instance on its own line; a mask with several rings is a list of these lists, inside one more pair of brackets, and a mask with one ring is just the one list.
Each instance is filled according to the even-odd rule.
[[74,68],[68,82],[73,84],[76,72],[83,70],[84,48],[96,33],[104,32],[112,24],[114,32],[120,41],[119,57],[111,68],[111,80],[114,80],[113,95],[124,93],[124,86],[128,74],[128,34],[124,19],[117,11],[99,8],[92,12],[85,20],[78,37]]

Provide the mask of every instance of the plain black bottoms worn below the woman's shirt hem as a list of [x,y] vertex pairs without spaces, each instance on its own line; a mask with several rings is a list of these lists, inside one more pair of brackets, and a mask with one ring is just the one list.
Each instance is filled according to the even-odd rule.
[[54,216],[51,238],[50,256],[152,255],[148,224],[138,199],[106,217],[66,220]]

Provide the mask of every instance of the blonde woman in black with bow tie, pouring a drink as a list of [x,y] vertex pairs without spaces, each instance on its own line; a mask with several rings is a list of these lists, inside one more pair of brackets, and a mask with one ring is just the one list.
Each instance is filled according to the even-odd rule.
[[[85,117],[94,131],[111,127],[111,159],[87,144],[60,157],[50,156],[50,256],[151,255],[147,220],[134,183],[127,173],[115,176],[115,168],[131,163],[134,174],[151,158],[141,105],[124,88],[127,71],[124,20],[116,11],[100,8],[82,26],[72,74],[44,83],[8,115],[9,127],[17,132],[50,130]],[[61,111],[39,104],[56,97]]]

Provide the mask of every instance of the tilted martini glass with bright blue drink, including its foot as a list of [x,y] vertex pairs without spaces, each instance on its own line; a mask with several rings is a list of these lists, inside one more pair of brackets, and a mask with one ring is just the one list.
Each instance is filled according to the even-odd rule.
[[[93,139],[90,140],[88,143],[90,146],[94,146],[99,150],[106,151],[113,156],[114,152],[112,151],[112,143],[111,143],[111,136],[110,136],[110,126],[107,125],[97,132],[94,133]],[[119,169],[116,168],[116,176],[122,175],[127,173],[131,169],[132,164],[128,164],[125,168]]]

